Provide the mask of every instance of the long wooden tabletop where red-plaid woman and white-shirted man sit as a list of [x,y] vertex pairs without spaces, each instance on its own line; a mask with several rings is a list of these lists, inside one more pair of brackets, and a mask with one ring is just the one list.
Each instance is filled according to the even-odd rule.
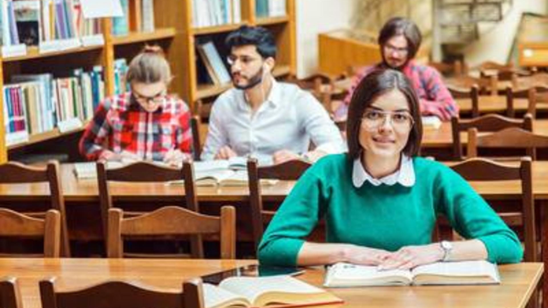
[[[61,182],[67,202],[99,202],[96,179],[78,180],[72,164],[61,165]],[[280,202],[293,189],[294,181],[278,181],[275,185],[262,186],[264,201]],[[516,199],[521,196],[518,181],[470,182],[472,187],[487,199]],[[533,192],[536,199],[548,199],[548,161],[533,162]],[[182,201],[183,185],[163,183],[112,183],[111,193],[117,201]],[[237,187],[198,187],[198,200],[208,202],[247,202],[247,186]],[[47,184],[0,185],[2,200],[44,200],[49,195]]]

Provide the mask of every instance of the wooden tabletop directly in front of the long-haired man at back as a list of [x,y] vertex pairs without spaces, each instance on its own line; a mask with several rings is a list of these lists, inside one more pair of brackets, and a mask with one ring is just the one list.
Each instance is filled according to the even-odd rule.
[[[548,119],[535,119],[533,121],[533,132],[535,134],[548,136]],[[463,145],[466,144],[468,136],[466,132],[460,134],[460,141]],[[442,122],[442,125],[435,128],[425,128],[423,130],[422,147],[452,147],[453,136],[451,132],[451,123]]]

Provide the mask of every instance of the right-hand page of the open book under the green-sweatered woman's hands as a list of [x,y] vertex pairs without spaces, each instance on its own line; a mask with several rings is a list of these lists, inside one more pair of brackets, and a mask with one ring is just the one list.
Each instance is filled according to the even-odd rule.
[[[485,280],[481,278],[488,278],[487,281],[493,283],[500,282],[498,275],[498,270],[496,265],[489,263],[484,260],[476,261],[460,261],[460,262],[437,262],[432,264],[426,264],[415,267],[412,271],[413,275],[416,277],[415,280],[419,279],[419,276],[438,276],[438,277],[461,277],[461,278],[477,278],[477,283],[482,283]],[[424,283],[427,283],[427,277],[424,278]],[[451,280],[450,283],[455,283],[457,280]],[[463,280],[468,282],[473,282],[473,279]],[[436,281],[438,283],[439,281]],[[443,282],[443,281],[441,281]],[[449,283],[449,280],[448,280]]]

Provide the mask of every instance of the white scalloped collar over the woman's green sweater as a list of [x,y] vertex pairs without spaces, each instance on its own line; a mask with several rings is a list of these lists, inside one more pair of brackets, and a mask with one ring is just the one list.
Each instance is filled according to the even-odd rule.
[[363,183],[369,181],[374,186],[381,184],[395,185],[399,183],[406,187],[412,187],[415,184],[415,170],[413,168],[413,159],[402,154],[402,161],[399,164],[399,169],[395,173],[384,176],[380,179],[375,179],[363,167],[360,158],[354,159],[352,168],[352,183],[356,188],[362,187]]

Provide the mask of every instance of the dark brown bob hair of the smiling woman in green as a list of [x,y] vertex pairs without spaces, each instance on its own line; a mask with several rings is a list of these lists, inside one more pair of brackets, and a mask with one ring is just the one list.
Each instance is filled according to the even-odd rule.
[[423,138],[423,122],[420,118],[419,99],[413,85],[402,72],[387,69],[369,73],[359,82],[352,94],[346,124],[346,142],[348,143],[350,159],[359,158],[363,150],[359,144],[359,130],[362,125],[364,111],[380,95],[395,89],[406,97],[409,111],[414,120],[403,153],[409,157],[419,155],[420,141]]

